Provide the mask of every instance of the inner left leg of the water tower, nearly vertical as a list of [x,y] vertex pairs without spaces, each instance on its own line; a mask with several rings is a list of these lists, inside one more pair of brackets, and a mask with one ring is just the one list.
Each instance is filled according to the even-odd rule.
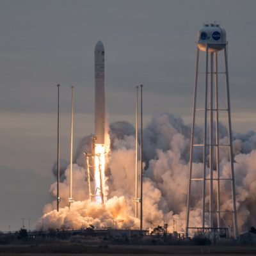
[[208,97],[208,56],[209,46],[206,45],[206,57],[205,57],[205,106],[204,106],[204,181],[203,181],[203,218],[202,227],[205,227],[205,179],[206,179],[206,143],[207,143],[207,97]]

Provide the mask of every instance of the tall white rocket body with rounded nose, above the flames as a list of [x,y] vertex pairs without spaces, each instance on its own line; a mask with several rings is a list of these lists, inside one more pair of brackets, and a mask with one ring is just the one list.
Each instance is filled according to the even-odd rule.
[[95,144],[104,144],[105,134],[105,60],[101,41],[95,45]]

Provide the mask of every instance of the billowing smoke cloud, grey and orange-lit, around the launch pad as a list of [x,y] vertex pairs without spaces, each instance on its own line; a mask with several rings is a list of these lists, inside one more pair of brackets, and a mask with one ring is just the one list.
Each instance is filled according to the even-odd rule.
[[[143,227],[168,223],[168,230],[175,228],[185,231],[186,200],[188,192],[188,158],[190,125],[182,118],[168,113],[159,113],[152,117],[143,131]],[[111,153],[108,156],[109,187],[108,201],[105,205],[88,200],[85,159],[83,152],[90,151],[90,136],[84,138],[76,152],[76,164],[73,164],[74,202],[68,209],[69,166],[63,172],[60,184],[61,209],[55,210],[56,202],[45,205],[44,227],[80,228],[95,227],[136,228],[140,221],[134,218],[134,163],[135,138],[134,127],[127,122],[116,122],[109,127]],[[227,129],[220,125],[220,141],[227,143]],[[195,127],[195,141],[202,142],[202,128]],[[237,194],[237,220],[239,231],[247,230],[255,224],[252,217],[256,213],[256,134],[234,134],[235,175]],[[221,177],[230,177],[228,151],[220,150]],[[202,177],[202,151],[197,150],[193,159],[195,177]],[[65,167],[66,167],[65,166]],[[201,176],[200,176],[201,175]],[[216,175],[216,172],[214,172]],[[214,186],[216,191],[216,186]],[[56,196],[56,183],[50,192]],[[190,223],[202,225],[202,184],[192,183],[192,205]],[[209,198],[206,202],[209,202]],[[232,210],[230,182],[221,182],[221,211]],[[232,225],[232,216],[221,215],[223,225]],[[41,222],[38,222],[40,228]]]

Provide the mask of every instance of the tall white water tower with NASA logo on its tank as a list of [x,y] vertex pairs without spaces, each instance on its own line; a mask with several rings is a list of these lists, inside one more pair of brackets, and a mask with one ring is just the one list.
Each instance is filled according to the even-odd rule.
[[[229,220],[237,237],[236,188],[234,178],[234,156],[232,148],[232,128],[230,118],[230,93],[228,81],[228,60],[226,31],[218,24],[205,24],[197,35],[195,91],[193,101],[193,122],[191,127],[191,144],[189,155],[189,182],[186,216],[186,233],[189,228],[202,228],[218,232],[227,228]],[[218,61],[218,59],[220,60]],[[202,60],[201,60],[202,59]],[[202,70],[199,70],[199,69]],[[201,84],[200,84],[201,79]],[[223,83],[222,87],[220,86]],[[201,86],[201,88],[200,88]],[[224,89],[223,89],[224,88]],[[201,94],[200,94],[201,93]],[[227,136],[220,134],[220,116],[226,116]],[[201,118],[201,119],[200,119]],[[195,137],[195,125],[201,120],[203,136]],[[220,150],[227,151],[228,170],[223,174],[220,164]],[[193,158],[199,156],[203,162],[202,173],[193,168]],[[228,173],[228,174],[227,174]],[[198,182],[200,182],[198,184]],[[221,209],[221,182],[229,186],[230,209]],[[192,214],[195,188],[202,189],[202,227],[195,227],[189,222]],[[198,207],[198,206],[197,206]]]

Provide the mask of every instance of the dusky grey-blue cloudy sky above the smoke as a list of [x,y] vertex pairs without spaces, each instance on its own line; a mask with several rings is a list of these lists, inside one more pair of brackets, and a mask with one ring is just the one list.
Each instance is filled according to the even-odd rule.
[[106,56],[109,122],[134,123],[135,86],[143,84],[144,120],[168,112],[189,124],[196,32],[205,22],[227,31],[232,127],[255,131],[253,0],[0,1],[0,230],[31,228],[51,202],[60,83],[61,158],[93,132],[94,47]]

